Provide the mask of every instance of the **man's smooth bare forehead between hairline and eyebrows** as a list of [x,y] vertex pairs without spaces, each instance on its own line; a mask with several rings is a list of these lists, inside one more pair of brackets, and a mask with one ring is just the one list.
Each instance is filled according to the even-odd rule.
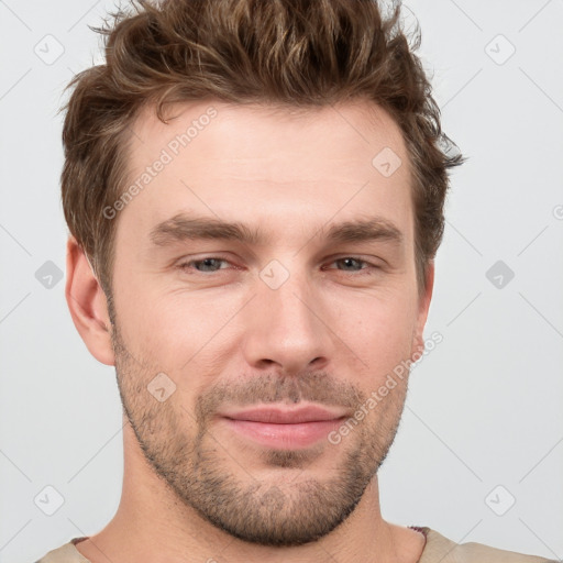
[[297,110],[211,100],[176,104],[167,118],[147,107],[132,126],[136,189],[120,212],[128,229],[150,233],[178,212],[262,223],[288,239],[297,234],[288,219],[301,233],[358,213],[410,229],[402,135],[373,103]]

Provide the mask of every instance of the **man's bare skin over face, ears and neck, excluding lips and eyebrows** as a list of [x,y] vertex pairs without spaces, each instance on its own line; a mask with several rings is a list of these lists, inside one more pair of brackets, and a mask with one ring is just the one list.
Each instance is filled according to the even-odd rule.
[[[297,115],[206,101],[174,114],[163,124],[144,111],[133,126],[130,181],[147,167],[151,179],[108,219],[119,221],[113,310],[68,241],[73,320],[115,366],[124,405],[120,506],[76,548],[92,563],[416,563],[424,538],[383,519],[377,482],[408,376],[339,430],[423,347],[433,266],[419,291],[398,126],[367,102]],[[194,120],[197,133],[174,144]],[[388,176],[372,164],[385,147],[401,161]],[[263,239],[154,244],[150,233],[178,213]],[[374,218],[374,239],[327,238]],[[150,393],[155,377],[163,400]],[[333,409],[341,440],[264,445],[224,416],[265,404]]]

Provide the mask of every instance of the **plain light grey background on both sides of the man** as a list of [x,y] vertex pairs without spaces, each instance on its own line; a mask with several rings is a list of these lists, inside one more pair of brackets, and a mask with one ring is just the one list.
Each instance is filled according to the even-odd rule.
[[[112,7],[0,1],[2,563],[96,533],[121,493],[114,371],[76,332],[64,279],[46,288],[35,277],[47,261],[65,269],[56,111],[73,74],[100,60],[87,25]],[[563,2],[406,7],[422,29],[443,128],[470,159],[453,175],[437,261],[427,333],[443,342],[412,373],[379,474],[383,515],[561,559]],[[487,278],[497,261],[514,279],[503,265]],[[53,516],[48,485],[64,497]]]

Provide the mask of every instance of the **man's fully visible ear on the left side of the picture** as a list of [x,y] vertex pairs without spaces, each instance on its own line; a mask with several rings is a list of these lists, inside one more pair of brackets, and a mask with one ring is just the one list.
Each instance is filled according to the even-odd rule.
[[66,272],[65,297],[76,330],[96,360],[114,365],[106,295],[74,236],[66,246]]

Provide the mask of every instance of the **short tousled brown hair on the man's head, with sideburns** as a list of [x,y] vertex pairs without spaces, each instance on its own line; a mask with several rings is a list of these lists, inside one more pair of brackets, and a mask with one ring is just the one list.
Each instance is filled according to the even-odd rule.
[[[106,64],[76,75],[63,143],[62,198],[70,233],[112,296],[118,221],[103,209],[128,176],[131,124],[154,104],[217,99],[313,108],[365,99],[399,125],[412,165],[419,289],[440,245],[448,169],[464,158],[441,131],[420,59],[418,26],[401,27],[400,2],[384,16],[376,0],[164,0],[133,2],[92,27]],[[409,45],[409,38],[411,44]],[[374,155],[375,156],[375,155]]]

